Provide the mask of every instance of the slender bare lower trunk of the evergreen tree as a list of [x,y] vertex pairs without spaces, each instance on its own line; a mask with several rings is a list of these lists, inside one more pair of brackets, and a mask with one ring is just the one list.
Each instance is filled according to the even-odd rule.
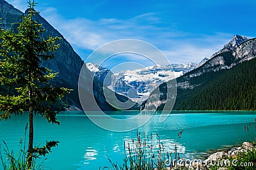
[[31,99],[31,91],[29,90],[29,143],[28,143],[28,169],[31,169],[33,160],[33,141],[34,141],[34,124],[33,124],[33,100]]

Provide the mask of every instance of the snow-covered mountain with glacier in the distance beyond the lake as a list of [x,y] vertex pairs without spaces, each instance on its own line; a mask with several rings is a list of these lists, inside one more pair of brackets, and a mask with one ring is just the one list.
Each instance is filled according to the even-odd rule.
[[86,66],[109,89],[141,103],[147,99],[150,92],[162,83],[188,73],[207,60],[205,58],[199,64],[191,62],[189,64],[170,64],[166,66],[155,65],[120,71],[116,74],[98,64],[88,63]]

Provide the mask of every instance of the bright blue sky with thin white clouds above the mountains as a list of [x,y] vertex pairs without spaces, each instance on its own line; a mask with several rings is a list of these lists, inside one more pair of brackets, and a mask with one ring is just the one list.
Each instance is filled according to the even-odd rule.
[[[26,0],[7,1],[19,10],[26,9]],[[256,37],[255,0],[37,2],[36,10],[83,60],[109,41],[128,38],[151,43],[172,64],[188,64],[210,57],[234,34]],[[129,60],[133,59],[122,58]]]

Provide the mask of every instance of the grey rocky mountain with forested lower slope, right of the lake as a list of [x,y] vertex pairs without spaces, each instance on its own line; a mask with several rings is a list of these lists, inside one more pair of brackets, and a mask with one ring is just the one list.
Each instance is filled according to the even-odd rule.
[[[177,78],[177,97],[174,105],[175,110],[236,110],[237,108],[243,108],[243,110],[251,110],[253,108],[249,107],[246,104],[241,103],[241,100],[237,98],[236,90],[230,91],[229,89],[234,89],[233,87],[237,87],[239,89],[239,97],[244,97],[244,99],[248,99],[248,97],[244,96],[244,94],[248,94],[248,90],[253,92],[255,95],[256,89],[255,83],[250,83],[250,86],[243,87],[239,85],[239,83],[249,80],[248,77],[250,75],[244,73],[244,69],[248,69],[252,76],[256,76],[256,73],[253,72],[255,69],[255,58],[256,58],[256,38],[248,39],[243,41],[239,46],[237,46],[234,50],[227,50],[215,55],[211,59],[209,59],[202,66],[190,71],[189,73],[184,74]],[[220,52],[220,51],[219,51]],[[244,64],[245,63],[245,64]],[[246,66],[252,66],[252,68],[248,68]],[[231,71],[230,71],[231,70]],[[237,72],[236,72],[237,71]],[[232,74],[234,75],[232,75]],[[236,74],[237,73],[237,74]],[[234,78],[234,80],[228,79],[229,77]],[[253,77],[251,76],[252,80]],[[225,77],[225,78],[223,78]],[[244,79],[243,79],[244,78]],[[226,80],[225,80],[226,79]],[[237,83],[235,80],[237,79]],[[239,80],[239,81],[238,81]],[[242,80],[242,81],[241,81]],[[223,81],[223,85],[221,85],[220,81]],[[227,82],[227,84],[225,83]],[[248,81],[251,82],[251,81]],[[214,90],[209,89],[209,87],[214,87]],[[243,87],[243,88],[241,88]],[[150,97],[147,101],[143,103],[142,108],[149,108],[148,106],[154,106],[155,109],[162,110],[164,108],[167,91],[170,87],[166,87],[166,83],[163,83],[159,86],[160,89],[160,99],[157,99],[154,96],[154,92],[150,94]],[[202,90],[204,89],[204,90]],[[208,90],[208,91],[207,91]],[[223,92],[227,92],[226,94]],[[206,96],[205,96],[206,95]],[[208,96],[208,98],[207,98]],[[214,104],[212,103],[214,96]],[[229,96],[229,97],[227,97]],[[222,99],[223,103],[225,100],[228,103],[221,105],[216,101],[216,99]],[[243,99],[243,98],[242,98]],[[156,104],[156,101],[159,101],[159,104]],[[251,96],[248,99],[248,102],[256,105],[256,100]],[[243,106],[241,106],[241,104]],[[196,106],[196,107],[195,107]],[[215,107],[213,107],[215,106]],[[237,106],[237,107],[236,107]]]

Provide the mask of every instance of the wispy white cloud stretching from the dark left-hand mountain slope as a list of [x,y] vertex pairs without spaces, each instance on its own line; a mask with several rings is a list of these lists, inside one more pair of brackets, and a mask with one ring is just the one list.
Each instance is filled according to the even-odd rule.
[[147,39],[148,31],[157,29],[154,21],[159,20],[154,17],[154,13],[145,13],[127,20],[117,18],[101,18],[100,20],[74,18],[67,20],[58,15],[56,9],[52,8],[43,9],[41,13],[64,34],[72,45],[90,50],[95,50],[104,43],[116,39]]

